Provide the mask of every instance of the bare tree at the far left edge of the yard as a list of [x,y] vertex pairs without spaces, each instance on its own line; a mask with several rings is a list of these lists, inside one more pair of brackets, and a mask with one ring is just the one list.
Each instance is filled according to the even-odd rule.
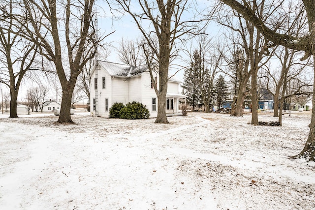
[[[3,4],[2,4],[3,3]],[[14,0],[4,0],[0,7],[0,83],[10,89],[10,118],[18,118],[17,97],[26,73],[32,68],[37,46],[25,37],[29,22],[25,11]],[[36,38],[34,38],[36,39]]]

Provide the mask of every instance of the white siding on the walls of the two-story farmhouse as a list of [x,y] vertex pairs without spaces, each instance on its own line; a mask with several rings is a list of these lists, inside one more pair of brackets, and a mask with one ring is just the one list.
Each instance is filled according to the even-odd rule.
[[[105,67],[105,66],[104,66]],[[105,67],[106,68],[106,67]],[[106,89],[102,89],[102,77],[106,77]],[[154,73],[159,83],[158,74]],[[90,87],[90,106],[91,113],[95,114],[93,110],[93,99],[95,98],[95,71],[91,75]],[[108,110],[115,102],[126,104],[127,102],[138,101],[146,105],[150,111],[150,117],[157,117],[158,114],[158,97],[154,89],[151,88],[151,77],[149,72],[143,72],[139,76],[130,78],[112,77],[100,65],[98,70],[98,116],[108,117],[109,112],[105,112],[105,99],[108,99]],[[168,82],[168,93],[179,93],[178,82]],[[157,111],[152,111],[152,98],[156,98]],[[178,98],[173,98],[174,112],[178,111]],[[173,110],[172,110],[173,112]]]

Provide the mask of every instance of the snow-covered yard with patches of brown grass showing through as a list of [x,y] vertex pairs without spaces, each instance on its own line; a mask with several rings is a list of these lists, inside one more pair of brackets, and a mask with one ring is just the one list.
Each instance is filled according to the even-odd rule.
[[313,210],[315,163],[288,159],[310,117],[0,119],[0,209]]

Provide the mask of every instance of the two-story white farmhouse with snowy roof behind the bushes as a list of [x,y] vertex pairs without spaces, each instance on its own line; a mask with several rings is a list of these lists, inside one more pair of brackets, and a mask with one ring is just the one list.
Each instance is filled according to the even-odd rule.
[[[96,66],[96,70],[95,70]],[[91,114],[98,117],[108,117],[109,108],[115,103],[132,101],[146,105],[150,117],[158,115],[158,97],[153,88],[147,65],[130,66],[125,64],[98,61],[91,71],[90,106]],[[153,73],[158,85],[158,74]],[[170,79],[167,84],[166,113],[180,113],[179,99],[186,99],[181,94],[180,81]]]

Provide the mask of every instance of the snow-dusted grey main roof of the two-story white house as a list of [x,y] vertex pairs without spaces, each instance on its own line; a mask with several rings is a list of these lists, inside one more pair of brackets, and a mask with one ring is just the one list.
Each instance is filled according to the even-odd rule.
[[98,64],[100,64],[111,76],[132,77],[148,71],[147,65],[131,66],[108,61],[98,61]]

